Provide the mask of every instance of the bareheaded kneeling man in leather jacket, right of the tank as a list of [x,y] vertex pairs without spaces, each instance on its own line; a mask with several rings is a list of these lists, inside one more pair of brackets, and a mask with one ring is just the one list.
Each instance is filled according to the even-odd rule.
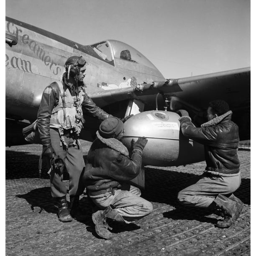
[[214,100],[207,109],[208,122],[196,128],[186,110],[177,112],[185,137],[205,146],[204,174],[178,194],[178,201],[187,206],[221,210],[224,220],[218,228],[228,228],[239,217],[243,203],[233,195],[241,184],[238,160],[238,126],[231,121],[228,103]]

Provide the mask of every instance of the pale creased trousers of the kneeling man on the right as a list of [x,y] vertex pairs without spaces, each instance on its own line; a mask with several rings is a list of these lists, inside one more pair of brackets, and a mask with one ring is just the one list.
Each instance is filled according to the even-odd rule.
[[241,184],[241,176],[213,176],[210,173],[192,179],[189,187],[178,193],[178,201],[183,205],[207,208],[218,194],[230,196]]

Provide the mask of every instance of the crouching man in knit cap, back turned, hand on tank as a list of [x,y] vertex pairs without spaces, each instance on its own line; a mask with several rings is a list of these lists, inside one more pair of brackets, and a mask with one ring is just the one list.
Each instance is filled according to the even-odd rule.
[[151,202],[140,197],[140,189],[129,184],[141,171],[147,139],[138,138],[133,143],[130,158],[128,149],[120,141],[123,133],[123,122],[118,118],[110,117],[100,124],[83,176],[87,195],[100,209],[92,214],[95,231],[105,239],[113,237],[108,230],[109,220],[129,223],[153,211]]

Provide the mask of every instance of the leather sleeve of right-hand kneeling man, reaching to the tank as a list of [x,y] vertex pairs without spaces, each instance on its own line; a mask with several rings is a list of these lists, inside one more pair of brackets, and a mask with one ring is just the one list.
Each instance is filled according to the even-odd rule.
[[215,141],[218,137],[218,129],[212,127],[195,127],[189,118],[180,118],[182,134],[192,140],[207,144]]

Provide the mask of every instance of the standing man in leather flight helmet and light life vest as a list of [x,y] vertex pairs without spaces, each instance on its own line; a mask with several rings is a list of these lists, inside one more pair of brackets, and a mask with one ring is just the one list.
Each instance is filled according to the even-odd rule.
[[[58,215],[62,222],[72,221],[72,217],[84,219],[79,208],[79,195],[84,191],[81,174],[85,167],[79,142],[84,123],[82,108],[100,120],[112,116],[97,107],[85,92],[85,63],[82,56],[67,59],[64,66],[66,72],[61,81],[45,88],[37,114],[38,131],[48,169],[51,168],[53,156],[58,155],[65,164],[61,168],[53,166],[49,171],[51,196],[58,202]],[[70,213],[66,200],[67,189],[62,182],[64,168],[69,173]]]

